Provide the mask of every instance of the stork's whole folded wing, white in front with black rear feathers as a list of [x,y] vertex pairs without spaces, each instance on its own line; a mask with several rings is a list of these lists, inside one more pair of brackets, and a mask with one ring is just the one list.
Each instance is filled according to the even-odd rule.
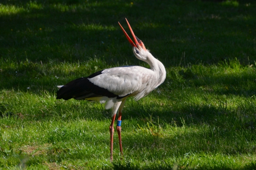
[[102,96],[123,98],[129,94],[137,94],[145,89],[151,72],[150,69],[139,66],[105,69],[65,84],[57,92],[57,99],[80,100]]

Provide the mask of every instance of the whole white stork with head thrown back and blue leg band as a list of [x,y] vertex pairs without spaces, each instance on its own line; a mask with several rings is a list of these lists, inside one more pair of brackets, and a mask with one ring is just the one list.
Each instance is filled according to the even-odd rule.
[[112,108],[112,121],[109,127],[110,131],[110,160],[113,160],[113,134],[114,121],[118,111],[116,130],[118,133],[120,152],[122,152],[121,141],[121,115],[125,101],[128,97],[134,97],[139,100],[149,94],[162,84],[166,77],[164,65],[154,58],[145,48],[142,41],[137,38],[126,19],[134,38],[127,35],[121,24],[122,31],[132,46],[132,51],[139,60],[145,61],[150,65],[150,69],[140,66],[123,66],[107,68],[88,77],[75,79],[64,86],[58,86],[57,99],[76,100],[86,99],[87,101],[98,101],[105,103],[105,109]]

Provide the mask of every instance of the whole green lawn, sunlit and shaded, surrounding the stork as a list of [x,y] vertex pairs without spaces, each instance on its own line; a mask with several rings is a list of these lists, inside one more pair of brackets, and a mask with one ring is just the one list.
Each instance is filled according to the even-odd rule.
[[[255,1],[2,1],[0,169],[256,169]],[[166,67],[128,99],[124,159],[110,110],[56,85],[140,65],[117,21]]]

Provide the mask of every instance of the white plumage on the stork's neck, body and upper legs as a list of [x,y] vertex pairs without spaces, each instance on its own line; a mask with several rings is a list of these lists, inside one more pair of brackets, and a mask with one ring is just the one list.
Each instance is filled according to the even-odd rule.
[[[145,52],[146,62],[149,63],[151,69],[140,66],[108,68],[102,71],[102,74],[89,78],[89,81],[119,97],[133,96],[135,100],[141,99],[163,83],[166,78],[164,65],[148,51]],[[122,101],[117,97],[99,97],[94,100],[100,103],[107,102],[105,109],[114,109],[115,103]],[[116,114],[115,110],[113,110],[113,114]]]

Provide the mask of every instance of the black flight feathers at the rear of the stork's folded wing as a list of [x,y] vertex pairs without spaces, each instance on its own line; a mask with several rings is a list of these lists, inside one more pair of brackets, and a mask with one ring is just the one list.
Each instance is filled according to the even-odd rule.
[[118,95],[112,92],[109,92],[107,89],[96,86],[95,84],[89,81],[88,78],[99,76],[100,74],[102,74],[102,71],[103,70],[93,73],[88,77],[78,78],[65,84],[59,89],[59,91],[57,91],[56,99],[68,100],[71,98],[75,98],[77,100],[81,100],[81,99],[86,99],[91,97],[102,97],[102,96],[106,96],[109,98],[125,97],[125,96],[119,97]]

